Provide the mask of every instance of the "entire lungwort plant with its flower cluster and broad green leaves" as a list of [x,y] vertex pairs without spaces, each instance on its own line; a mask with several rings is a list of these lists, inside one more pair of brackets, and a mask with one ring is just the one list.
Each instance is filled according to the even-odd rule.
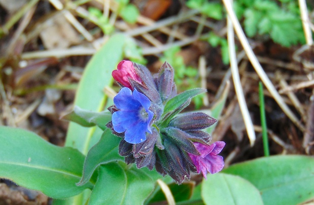
[[[152,75],[121,61],[125,44],[125,36],[112,36],[88,63],[74,110],[63,117],[74,121],[65,147],[0,127],[1,178],[42,191],[54,204],[161,202],[161,180],[184,204],[297,204],[314,197],[314,160],[306,156],[264,157],[214,174],[224,167],[225,143],[210,142],[209,133],[227,91],[211,112],[182,112],[206,90],[177,93],[175,68],[166,62]],[[121,89],[112,101],[102,90],[113,79]],[[192,173],[207,180],[195,187]]]

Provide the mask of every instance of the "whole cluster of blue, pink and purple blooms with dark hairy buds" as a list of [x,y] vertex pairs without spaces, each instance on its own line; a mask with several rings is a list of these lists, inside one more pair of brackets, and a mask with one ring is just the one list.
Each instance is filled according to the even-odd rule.
[[189,179],[191,172],[202,172],[206,178],[207,172],[214,174],[223,168],[218,154],[225,143],[209,145],[211,136],[202,131],[216,120],[201,112],[180,114],[190,98],[171,110],[166,108],[177,96],[174,71],[167,62],[158,74],[151,75],[143,65],[124,60],[112,76],[123,88],[113,98],[112,121],[107,126],[123,139],[119,154],[128,164],[155,167],[178,184]]

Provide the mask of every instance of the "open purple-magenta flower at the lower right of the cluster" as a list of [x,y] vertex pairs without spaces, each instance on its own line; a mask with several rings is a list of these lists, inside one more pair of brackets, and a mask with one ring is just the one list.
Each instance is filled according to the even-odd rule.
[[198,156],[191,153],[188,153],[188,155],[197,167],[198,174],[202,172],[204,178],[206,179],[207,172],[215,174],[223,168],[223,157],[218,154],[225,146],[224,142],[218,141],[211,145],[205,145],[198,142],[194,142],[193,144],[201,155]]

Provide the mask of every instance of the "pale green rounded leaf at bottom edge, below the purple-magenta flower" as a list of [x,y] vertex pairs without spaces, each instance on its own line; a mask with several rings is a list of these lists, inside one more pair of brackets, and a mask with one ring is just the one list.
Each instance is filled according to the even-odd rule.
[[249,181],[220,173],[207,175],[207,180],[203,180],[202,197],[205,204],[263,204],[258,189]]

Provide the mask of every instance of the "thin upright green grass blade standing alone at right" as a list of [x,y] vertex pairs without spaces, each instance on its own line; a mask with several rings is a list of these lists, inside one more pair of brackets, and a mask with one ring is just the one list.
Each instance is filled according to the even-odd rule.
[[258,84],[258,94],[259,94],[259,109],[260,109],[260,115],[261,115],[264,155],[265,155],[265,157],[268,157],[269,156],[269,147],[268,147],[266,116],[265,116],[264,92],[263,92],[263,83],[260,81]]

